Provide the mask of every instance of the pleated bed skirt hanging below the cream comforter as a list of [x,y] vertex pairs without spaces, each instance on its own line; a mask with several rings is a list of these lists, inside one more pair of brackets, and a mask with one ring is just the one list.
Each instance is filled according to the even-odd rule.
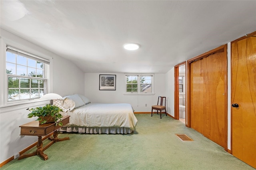
[[90,134],[128,134],[134,130],[125,127],[61,127],[60,132],[78,132],[78,133],[90,133]]

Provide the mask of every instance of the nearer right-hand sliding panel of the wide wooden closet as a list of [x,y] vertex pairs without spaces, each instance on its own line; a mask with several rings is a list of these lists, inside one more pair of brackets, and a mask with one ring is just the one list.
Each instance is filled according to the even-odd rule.
[[225,145],[225,81],[224,52],[202,59],[204,63],[204,136]]

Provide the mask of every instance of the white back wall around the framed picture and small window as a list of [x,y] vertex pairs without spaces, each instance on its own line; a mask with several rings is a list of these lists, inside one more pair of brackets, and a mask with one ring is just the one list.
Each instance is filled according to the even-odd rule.
[[[100,74],[116,75],[116,90],[99,90]],[[165,74],[154,74],[154,95],[126,95],[125,81],[123,73],[85,73],[84,94],[92,103],[130,103],[135,112],[151,112],[151,106],[157,104],[158,96],[166,95]]]

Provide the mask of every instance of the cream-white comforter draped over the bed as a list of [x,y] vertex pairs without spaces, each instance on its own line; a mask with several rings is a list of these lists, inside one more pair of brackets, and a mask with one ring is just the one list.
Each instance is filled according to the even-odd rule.
[[134,130],[137,119],[127,103],[88,103],[66,112],[70,123],[66,127],[126,127]]

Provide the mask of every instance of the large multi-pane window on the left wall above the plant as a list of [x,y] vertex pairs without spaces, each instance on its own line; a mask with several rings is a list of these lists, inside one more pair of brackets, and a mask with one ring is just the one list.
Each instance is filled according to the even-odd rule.
[[6,46],[7,102],[38,99],[47,93],[49,61]]

